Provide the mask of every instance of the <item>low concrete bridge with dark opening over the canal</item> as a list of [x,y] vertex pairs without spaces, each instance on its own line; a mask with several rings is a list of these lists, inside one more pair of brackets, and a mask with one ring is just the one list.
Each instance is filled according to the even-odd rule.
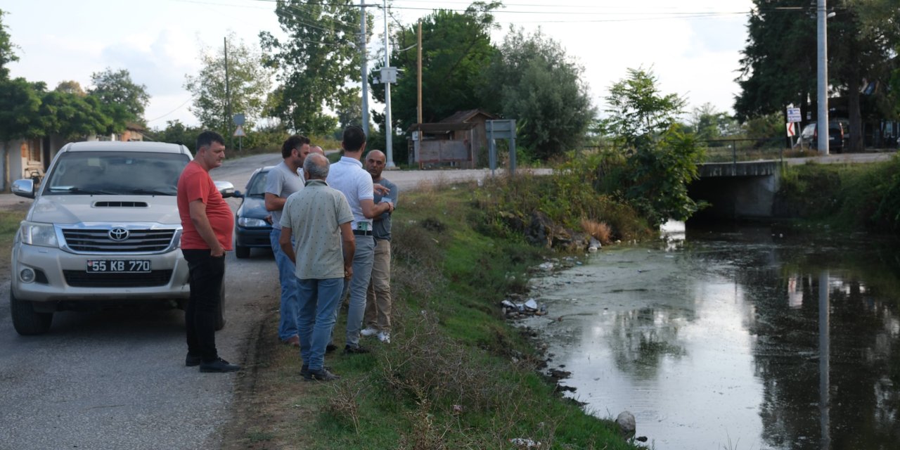
[[794,157],[783,160],[704,163],[700,179],[688,186],[690,198],[706,201],[711,207],[695,215],[697,219],[769,219],[775,193],[779,190],[782,165],[807,162],[817,164],[860,164],[886,161],[896,152],[851,153],[825,157]]

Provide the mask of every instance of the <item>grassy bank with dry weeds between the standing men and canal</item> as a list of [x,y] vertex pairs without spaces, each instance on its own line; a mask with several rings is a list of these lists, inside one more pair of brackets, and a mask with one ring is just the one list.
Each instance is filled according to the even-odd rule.
[[[545,256],[504,219],[541,202],[522,195],[528,183],[404,193],[393,219],[392,344],[364,338],[372,353],[326,357],[340,381],[303,383],[297,352],[273,344],[273,312],[240,375],[225,448],[523,448],[514,438],[635,448],[563,399],[538,373],[543,356],[527,332],[501,317],[500,301],[524,292],[528,267]],[[345,323],[342,313],[337,337]]]

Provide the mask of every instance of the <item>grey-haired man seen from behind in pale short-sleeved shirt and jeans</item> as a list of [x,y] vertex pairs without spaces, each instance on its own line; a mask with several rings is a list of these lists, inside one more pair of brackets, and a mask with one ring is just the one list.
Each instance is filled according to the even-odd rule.
[[308,381],[331,381],[339,377],[325,368],[325,350],[345,280],[353,276],[353,213],[344,195],[325,183],[326,157],[307,157],[303,173],[309,183],[284,203],[278,243],[296,265],[300,373]]

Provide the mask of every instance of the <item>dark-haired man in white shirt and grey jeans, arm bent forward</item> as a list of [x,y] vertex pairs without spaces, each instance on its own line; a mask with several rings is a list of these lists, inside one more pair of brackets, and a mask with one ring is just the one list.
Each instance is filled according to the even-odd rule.
[[[372,218],[383,212],[393,211],[393,204],[374,202],[372,175],[365,171],[360,158],[365,150],[365,132],[357,126],[344,130],[341,141],[344,156],[331,165],[328,184],[347,198],[353,211],[353,234],[356,237],[356,251],[353,257],[353,277],[349,283],[350,306],[347,310],[347,343],[344,353],[367,353],[359,346],[359,332],[363,328],[365,313],[365,291],[369,287],[374,261],[375,242],[372,237]],[[336,310],[337,311],[337,310]]]

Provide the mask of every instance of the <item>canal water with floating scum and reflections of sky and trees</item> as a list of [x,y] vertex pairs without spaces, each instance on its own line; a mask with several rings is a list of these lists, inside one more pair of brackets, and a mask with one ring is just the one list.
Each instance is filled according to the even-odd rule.
[[[604,248],[523,320],[601,418],[659,450],[900,448],[900,252],[768,226]],[[822,305],[827,305],[825,308]]]

